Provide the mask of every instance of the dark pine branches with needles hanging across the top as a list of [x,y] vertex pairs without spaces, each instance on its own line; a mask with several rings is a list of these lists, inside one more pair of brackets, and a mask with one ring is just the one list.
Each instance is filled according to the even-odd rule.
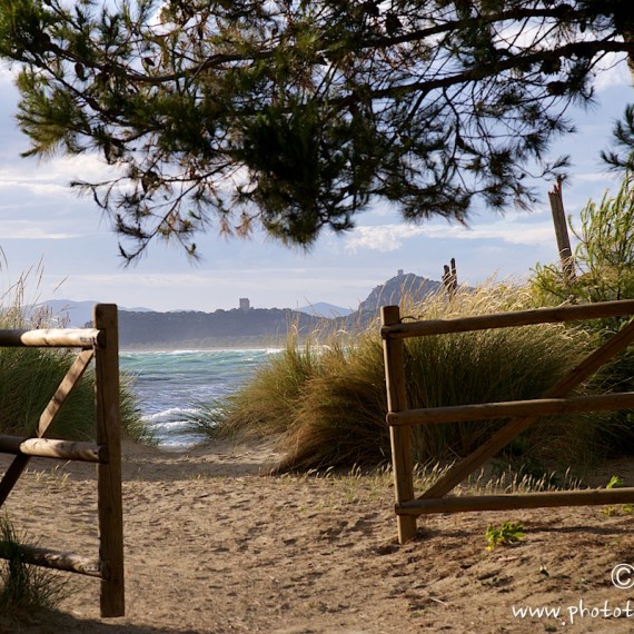
[[[458,221],[476,196],[526,202],[633,32],[630,0],[0,1],[27,153],[105,159],[76,185],[128,259],[194,256],[212,221],[306,246],[378,200]],[[616,136],[627,165],[634,108]]]

